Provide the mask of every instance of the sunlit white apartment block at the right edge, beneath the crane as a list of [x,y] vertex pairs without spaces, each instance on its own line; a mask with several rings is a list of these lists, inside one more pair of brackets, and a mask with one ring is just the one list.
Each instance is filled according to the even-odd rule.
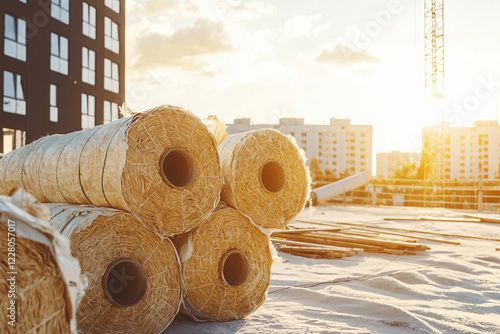
[[425,127],[422,142],[422,154],[430,161],[427,177],[460,180],[500,176],[497,121],[476,121],[474,127],[452,127],[447,122]]

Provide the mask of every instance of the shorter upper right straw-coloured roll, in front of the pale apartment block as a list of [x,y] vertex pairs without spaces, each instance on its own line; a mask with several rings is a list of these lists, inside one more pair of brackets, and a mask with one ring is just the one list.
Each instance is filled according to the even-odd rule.
[[229,135],[220,144],[221,200],[265,228],[283,228],[310,193],[309,169],[295,139],[273,129]]

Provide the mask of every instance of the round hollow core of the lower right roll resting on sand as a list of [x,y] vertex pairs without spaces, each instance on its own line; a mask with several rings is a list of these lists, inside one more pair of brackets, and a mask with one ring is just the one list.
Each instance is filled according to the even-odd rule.
[[219,274],[222,281],[231,287],[240,286],[248,278],[250,262],[239,249],[232,249],[222,255],[219,261]]

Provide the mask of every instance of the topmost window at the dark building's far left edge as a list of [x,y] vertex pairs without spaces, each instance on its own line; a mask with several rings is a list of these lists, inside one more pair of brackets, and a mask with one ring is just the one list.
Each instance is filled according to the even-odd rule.
[[26,61],[26,21],[5,14],[4,54]]

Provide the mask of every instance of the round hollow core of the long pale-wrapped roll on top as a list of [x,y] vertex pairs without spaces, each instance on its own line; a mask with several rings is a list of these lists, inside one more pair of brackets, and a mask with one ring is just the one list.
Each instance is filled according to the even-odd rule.
[[196,164],[191,154],[181,148],[171,148],[160,158],[160,175],[173,188],[186,188],[196,176]]

